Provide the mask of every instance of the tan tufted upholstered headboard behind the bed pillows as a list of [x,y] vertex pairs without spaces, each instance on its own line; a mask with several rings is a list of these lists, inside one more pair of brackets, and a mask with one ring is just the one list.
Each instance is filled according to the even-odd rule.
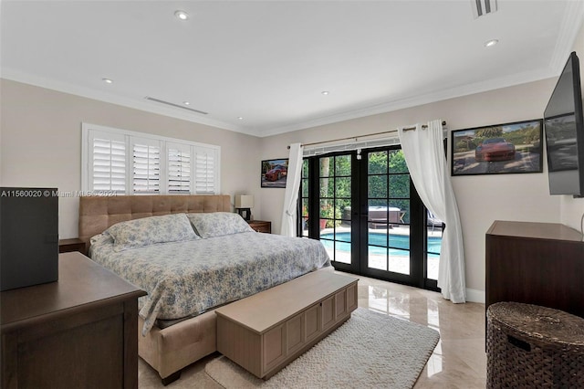
[[89,239],[116,223],[169,214],[231,212],[229,195],[117,195],[79,198],[79,238]]

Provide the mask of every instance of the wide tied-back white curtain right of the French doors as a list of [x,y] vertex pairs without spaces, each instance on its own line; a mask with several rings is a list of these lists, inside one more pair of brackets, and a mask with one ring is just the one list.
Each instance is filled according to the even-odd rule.
[[427,126],[423,129],[421,124],[417,124],[416,129],[410,131],[399,128],[401,150],[423,204],[446,224],[438,268],[438,287],[442,289],[445,299],[464,302],[463,231],[444,158],[442,121],[430,121]]

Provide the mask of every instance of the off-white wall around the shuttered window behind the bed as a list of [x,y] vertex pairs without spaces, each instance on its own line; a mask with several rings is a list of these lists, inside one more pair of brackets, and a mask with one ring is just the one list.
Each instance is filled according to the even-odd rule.
[[[0,81],[4,186],[81,190],[81,122],[221,146],[224,195],[259,195],[259,138],[98,100]],[[254,208],[261,216],[261,205]],[[59,198],[59,236],[78,237],[78,198]]]

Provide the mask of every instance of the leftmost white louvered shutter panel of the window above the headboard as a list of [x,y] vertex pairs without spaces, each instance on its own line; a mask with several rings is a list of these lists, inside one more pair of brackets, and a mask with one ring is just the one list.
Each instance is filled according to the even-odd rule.
[[124,136],[111,136],[111,134],[97,131],[92,135],[89,141],[91,190],[125,194],[126,142]]

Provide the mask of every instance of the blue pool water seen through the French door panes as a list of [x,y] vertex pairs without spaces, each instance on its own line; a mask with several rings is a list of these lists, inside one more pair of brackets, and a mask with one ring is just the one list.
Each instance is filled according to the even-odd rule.
[[[336,239],[336,246],[333,239]],[[322,245],[332,250],[336,248],[339,251],[350,252],[350,232],[338,232],[337,234],[328,233],[320,235]],[[371,255],[387,254],[387,235],[375,232],[369,233],[369,253]],[[410,255],[410,236],[390,234],[389,244],[390,256],[409,256]],[[442,247],[442,237],[428,237],[428,257],[438,258]]]

